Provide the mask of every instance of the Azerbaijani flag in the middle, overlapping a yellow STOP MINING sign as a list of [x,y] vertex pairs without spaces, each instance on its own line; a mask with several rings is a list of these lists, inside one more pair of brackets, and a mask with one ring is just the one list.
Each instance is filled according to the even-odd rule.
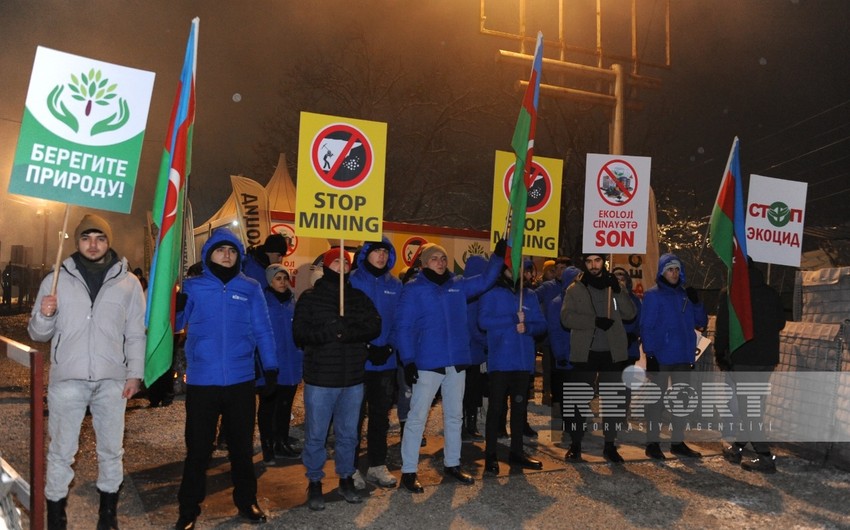
[[516,153],[514,176],[511,178],[511,224],[505,265],[511,268],[514,281],[522,273],[522,245],[525,236],[525,211],[528,205],[528,190],[534,183],[531,174],[531,159],[534,155],[534,131],[537,128],[537,102],[540,99],[540,72],[543,68],[543,33],[537,32],[534,48],[534,63],[531,78],[522,98],[511,147]]

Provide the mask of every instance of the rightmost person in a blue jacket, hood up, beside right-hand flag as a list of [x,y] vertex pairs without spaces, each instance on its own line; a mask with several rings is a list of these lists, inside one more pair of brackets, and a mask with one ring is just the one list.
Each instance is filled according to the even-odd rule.
[[[675,254],[658,259],[655,286],[646,291],[640,317],[640,337],[646,353],[647,375],[664,392],[670,383],[687,383],[688,372],[696,360],[696,330],[704,329],[708,318],[699,295],[686,287],[685,266]],[[647,405],[650,425],[661,421],[661,400]],[[673,432],[670,452],[674,455],[699,458],[702,455],[685,444],[686,418],[672,415]],[[658,429],[647,429],[646,456],[654,460],[666,457],[659,444]]]

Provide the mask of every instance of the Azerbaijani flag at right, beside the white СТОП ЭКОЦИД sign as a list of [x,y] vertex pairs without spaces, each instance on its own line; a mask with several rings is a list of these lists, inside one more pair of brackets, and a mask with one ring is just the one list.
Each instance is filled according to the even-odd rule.
[[735,137],[711,212],[709,235],[714,252],[726,264],[730,352],[753,338],[753,306],[747,270],[747,237],[744,233],[746,218],[738,151],[738,137]]

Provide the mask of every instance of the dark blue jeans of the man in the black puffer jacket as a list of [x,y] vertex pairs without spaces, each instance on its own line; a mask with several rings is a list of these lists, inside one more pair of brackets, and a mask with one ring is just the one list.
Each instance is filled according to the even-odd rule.
[[322,480],[325,476],[325,440],[331,419],[334,422],[334,464],[339,478],[348,478],[354,474],[354,452],[357,440],[357,423],[360,406],[363,403],[363,384],[329,388],[304,385],[304,450],[301,461],[307,468],[310,482]]

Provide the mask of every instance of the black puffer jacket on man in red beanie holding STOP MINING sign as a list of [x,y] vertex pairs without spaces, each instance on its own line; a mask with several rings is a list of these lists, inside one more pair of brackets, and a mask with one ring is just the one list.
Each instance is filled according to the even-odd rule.
[[328,268],[301,294],[292,320],[304,350],[304,382],[343,388],[363,382],[366,343],[381,334],[381,316],[363,291],[345,278],[345,316],[339,316],[339,275]]

